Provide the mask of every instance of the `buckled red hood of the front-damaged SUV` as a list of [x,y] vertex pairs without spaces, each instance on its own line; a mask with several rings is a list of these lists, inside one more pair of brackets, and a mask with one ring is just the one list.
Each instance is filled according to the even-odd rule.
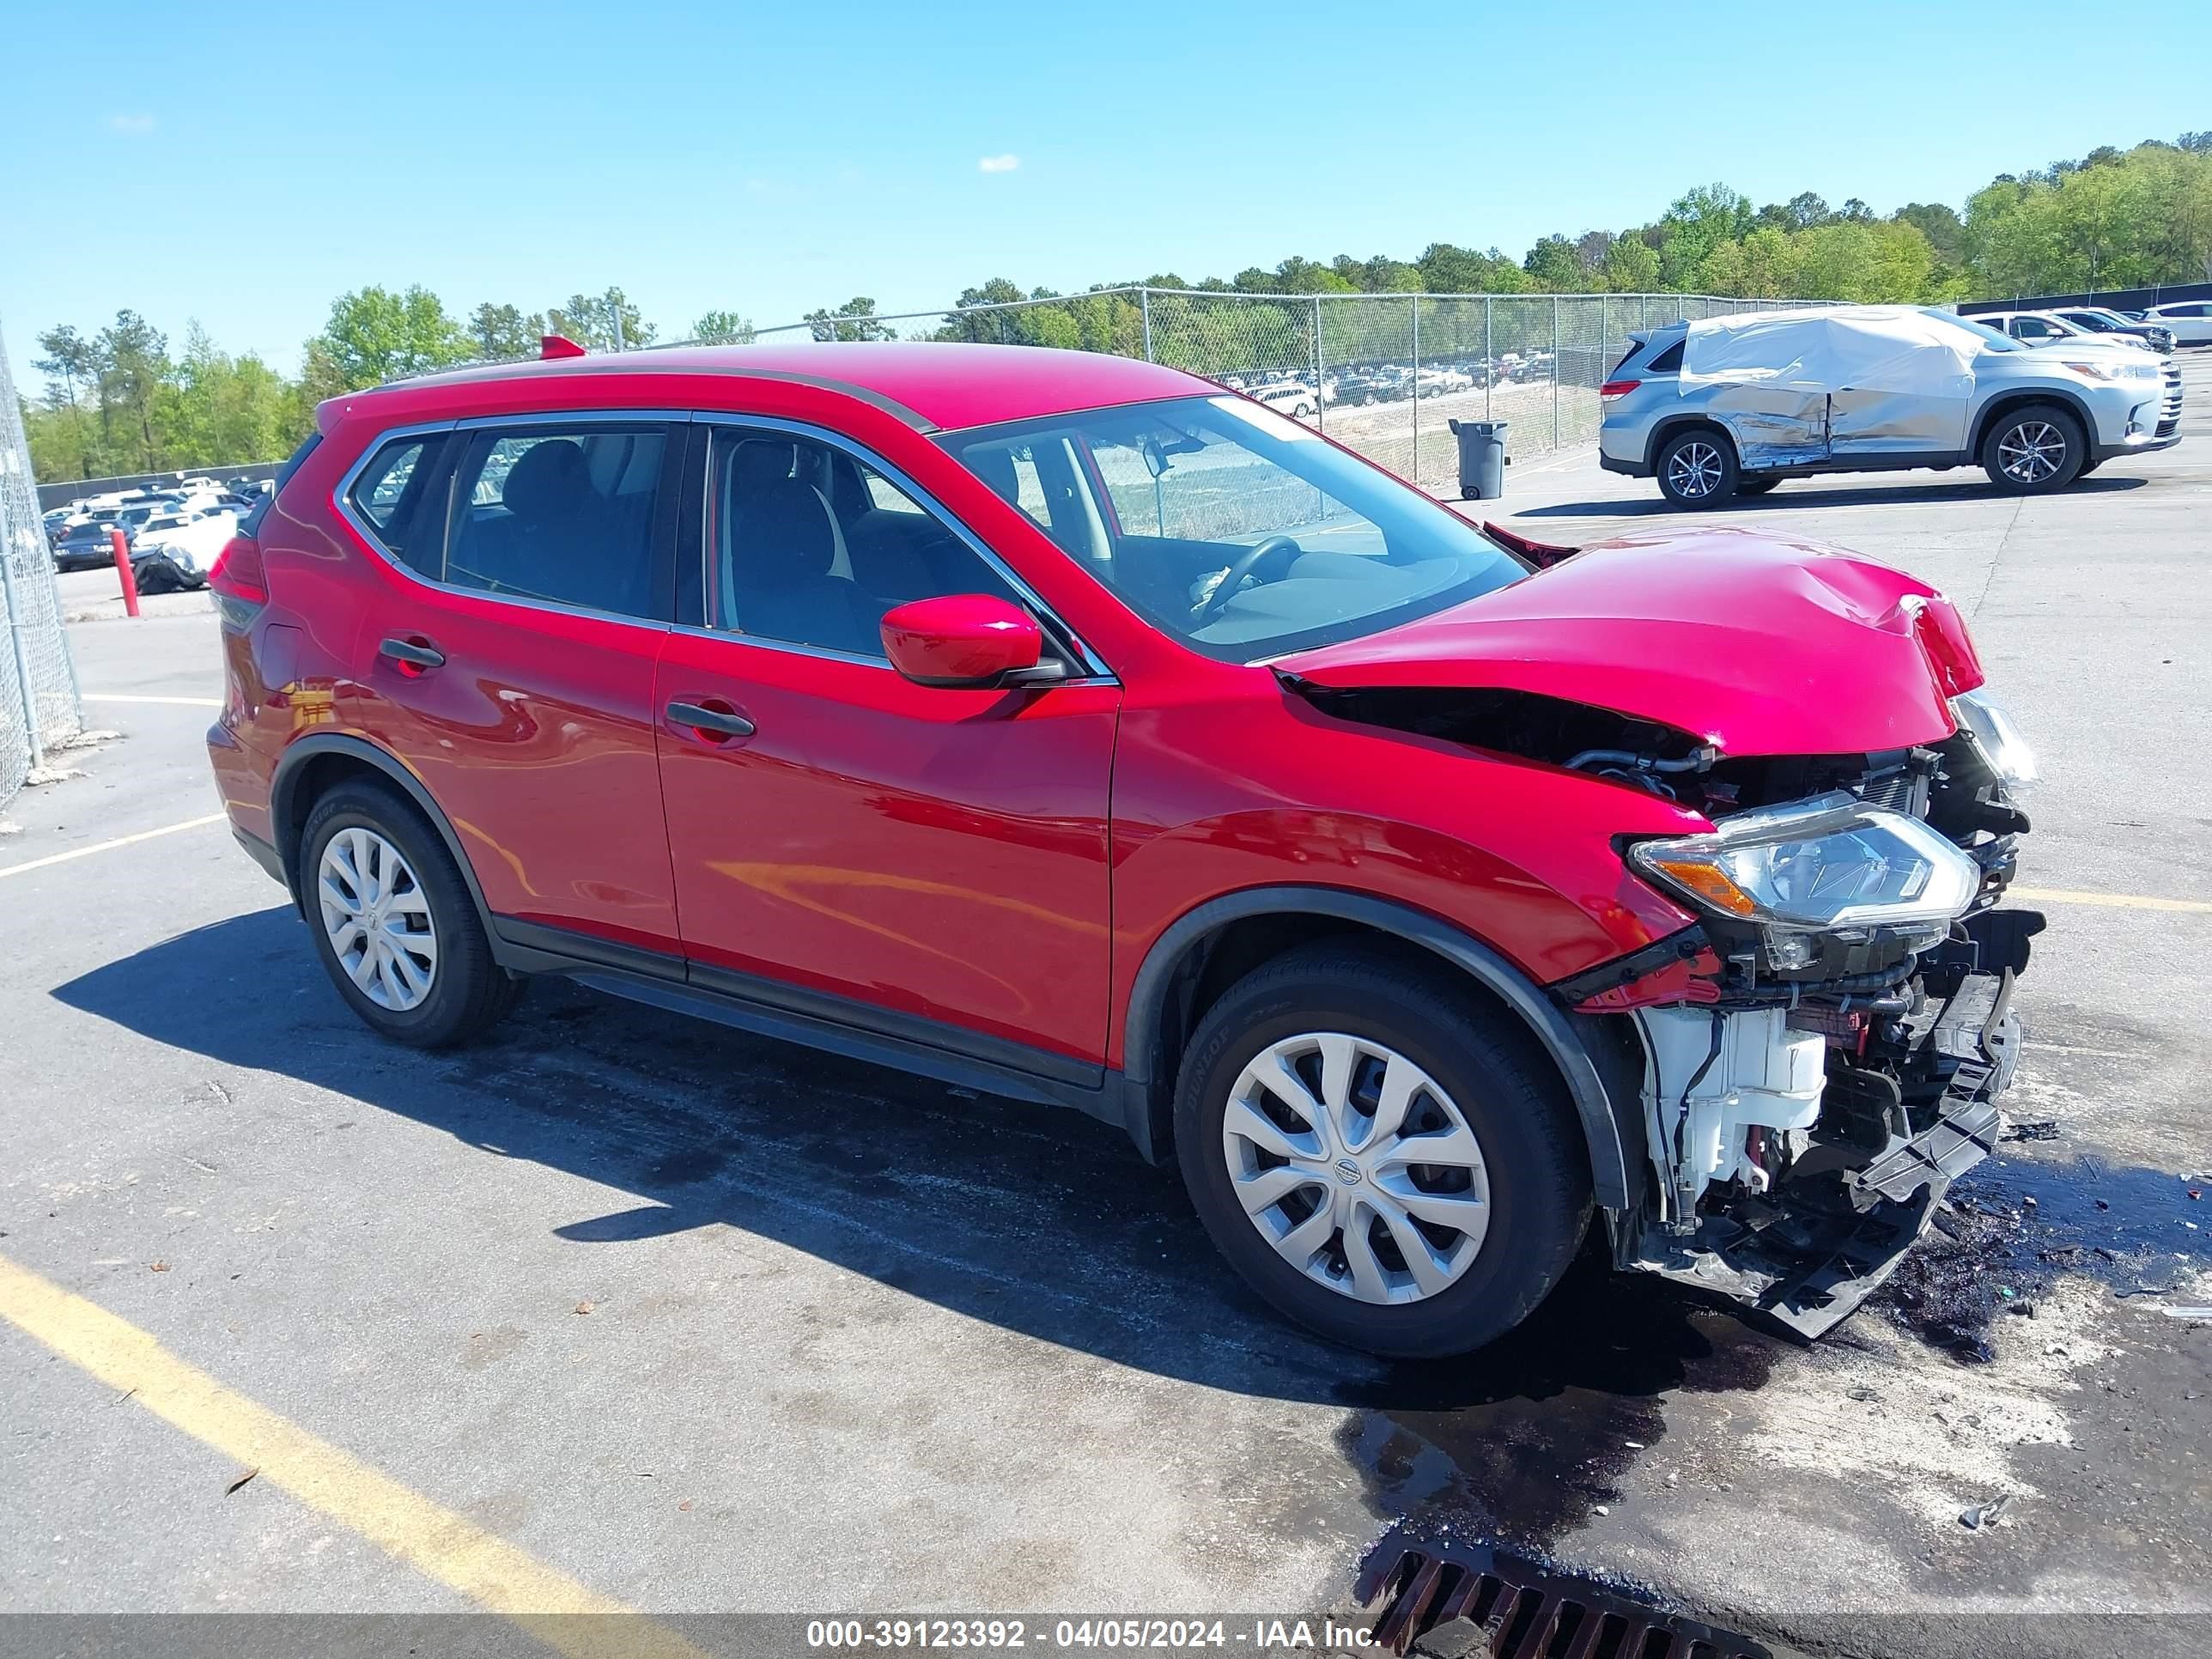
[[1321,686],[1495,686],[1663,721],[1723,754],[1858,754],[1951,734],[1982,684],[1924,582],[1747,529],[1624,535],[1511,588],[1276,668]]

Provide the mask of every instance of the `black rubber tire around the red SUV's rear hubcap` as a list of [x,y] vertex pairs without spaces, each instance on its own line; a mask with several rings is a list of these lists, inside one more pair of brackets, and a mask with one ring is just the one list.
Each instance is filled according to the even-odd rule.
[[[338,962],[338,951],[323,922],[316,896],[323,849],[343,830],[369,830],[392,843],[407,869],[414,872],[414,885],[429,905],[438,958],[429,993],[411,1009],[387,1009],[374,1002]],[[445,838],[431,830],[411,801],[389,785],[349,779],[314,803],[299,838],[299,883],[307,931],[323,971],[345,1004],[380,1037],[416,1048],[442,1048],[498,1024],[522,1000],[524,980],[493,962],[484,922]]]

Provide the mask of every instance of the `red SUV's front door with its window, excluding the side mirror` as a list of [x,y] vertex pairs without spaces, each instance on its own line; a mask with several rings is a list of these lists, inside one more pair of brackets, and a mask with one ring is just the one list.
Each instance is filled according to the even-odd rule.
[[1095,1082],[1119,686],[1073,641],[1048,688],[902,679],[887,606],[1037,602],[812,429],[717,425],[706,471],[706,626],[670,635],[657,692],[695,982]]

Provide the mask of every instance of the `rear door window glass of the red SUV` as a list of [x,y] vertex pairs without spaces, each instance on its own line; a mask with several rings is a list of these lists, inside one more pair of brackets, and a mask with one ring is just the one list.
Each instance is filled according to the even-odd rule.
[[668,427],[531,425],[465,438],[445,557],[451,586],[617,617],[666,615]]

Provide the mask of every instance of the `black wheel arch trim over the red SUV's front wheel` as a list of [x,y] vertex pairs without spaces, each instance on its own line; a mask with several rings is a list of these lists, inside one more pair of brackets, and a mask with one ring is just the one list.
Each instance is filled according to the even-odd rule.
[[1559,1009],[1513,962],[1451,922],[1427,911],[1371,894],[1347,894],[1336,887],[1250,887],[1223,894],[1172,922],[1144,956],[1130,984],[1121,1037],[1124,1124],[1148,1159],[1159,1159],[1168,1144],[1168,1121],[1175,1102],[1166,1099],[1166,1077],[1159,1044],[1168,1015],[1168,995],[1177,971],[1203,940],[1230,922],[1252,916],[1325,916],[1358,922],[1378,933],[1407,940],[1451,962],[1486,991],[1495,993],[1542,1044],[1559,1068],[1582,1139],[1590,1155],[1590,1190],[1606,1210],[1632,1203],[1630,1164],[1621,1135],[1624,1113],[1641,1121],[1639,1102],[1615,1106],[1599,1071],[1597,1048],[1586,1026],[1604,1024],[1595,1015],[1571,1015]]

